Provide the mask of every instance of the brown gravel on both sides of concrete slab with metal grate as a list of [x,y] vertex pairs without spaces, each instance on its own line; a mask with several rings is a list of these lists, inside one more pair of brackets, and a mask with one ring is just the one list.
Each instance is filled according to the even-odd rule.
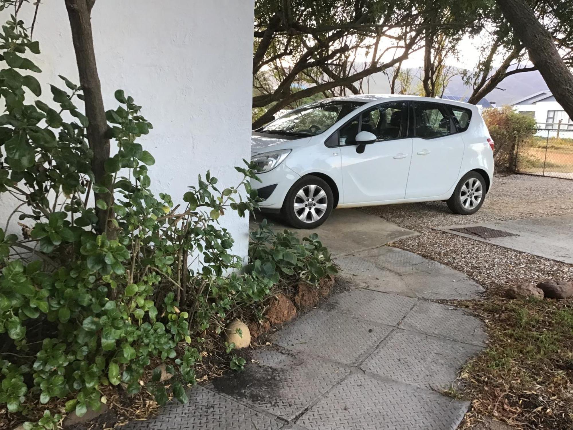
[[573,213],[573,181],[527,175],[496,177],[484,205],[469,216],[452,214],[445,202],[371,206],[363,210],[421,233],[397,241],[395,247],[464,272],[493,294],[519,282],[573,280],[573,264],[431,229]]

